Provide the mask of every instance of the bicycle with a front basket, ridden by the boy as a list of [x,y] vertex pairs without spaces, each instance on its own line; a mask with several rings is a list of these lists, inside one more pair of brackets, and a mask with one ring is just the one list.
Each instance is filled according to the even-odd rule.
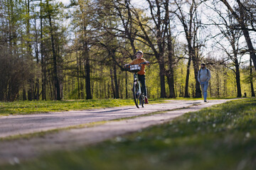
[[137,74],[137,72],[139,72],[141,69],[141,64],[146,64],[146,62],[142,62],[140,64],[127,64],[124,67],[124,69],[128,72],[134,73],[134,84],[132,88],[132,94],[134,97],[134,103],[137,106],[137,108],[139,108],[139,106],[142,106],[142,108],[144,108],[145,103],[145,96],[144,93],[142,92],[142,86],[141,83],[139,82]]

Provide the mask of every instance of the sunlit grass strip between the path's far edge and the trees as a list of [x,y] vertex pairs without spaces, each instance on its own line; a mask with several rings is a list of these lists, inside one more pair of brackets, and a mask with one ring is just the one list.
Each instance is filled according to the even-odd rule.
[[[165,99],[150,99],[150,103],[163,103]],[[74,101],[14,101],[0,102],[0,115],[21,115],[93,108],[133,106],[132,99],[92,99]]]

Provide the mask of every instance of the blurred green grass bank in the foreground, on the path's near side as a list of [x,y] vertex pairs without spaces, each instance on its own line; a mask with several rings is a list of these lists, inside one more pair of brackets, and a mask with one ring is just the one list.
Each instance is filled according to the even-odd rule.
[[0,169],[256,169],[256,99],[230,101],[99,145]]

